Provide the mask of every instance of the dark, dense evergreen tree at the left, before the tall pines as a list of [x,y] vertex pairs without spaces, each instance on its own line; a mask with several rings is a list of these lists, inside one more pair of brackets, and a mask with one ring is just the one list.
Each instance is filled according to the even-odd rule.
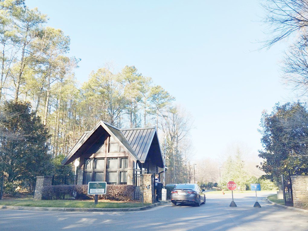
[[0,171],[11,190],[33,189],[35,177],[52,172],[48,131],[29,103],[6,102],[0,114]]

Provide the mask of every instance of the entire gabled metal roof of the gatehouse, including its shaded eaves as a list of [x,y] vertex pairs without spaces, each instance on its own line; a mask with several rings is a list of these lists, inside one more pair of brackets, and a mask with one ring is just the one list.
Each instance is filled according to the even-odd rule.
[[109,134],[123,150],[129,154],[133,160],[141,163],[150,154],[151,159],[155,159],[159,166],[164,163],[158,141],[156,127],[136,128],[136,129],[117,129],[116,127],[100,121],[95,128],[85,132],[71,151],[62,161],[62,165],[69,164],[83,154],[97,153],[103,148],[104,141],[107,139],[102,134]]

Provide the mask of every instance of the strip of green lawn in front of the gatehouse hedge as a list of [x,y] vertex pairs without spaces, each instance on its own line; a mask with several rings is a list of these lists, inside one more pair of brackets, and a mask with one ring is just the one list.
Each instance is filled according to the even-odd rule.
[[95,206],[94,200],[34,200],[32,198],[24,198],[0,200],[0,205],[66,208],[135,208],[149,205],[149,203],[143,204],[140,202],[109,202],[99,200],[98,204]]

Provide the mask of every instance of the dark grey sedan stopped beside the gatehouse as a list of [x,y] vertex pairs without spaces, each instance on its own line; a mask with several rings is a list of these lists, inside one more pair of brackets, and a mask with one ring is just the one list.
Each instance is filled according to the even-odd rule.
[[171,202],[173,205],[176,203],[193,203],[197,206],[205,204],[204,189],[197,184],[178,184],[171,191]]

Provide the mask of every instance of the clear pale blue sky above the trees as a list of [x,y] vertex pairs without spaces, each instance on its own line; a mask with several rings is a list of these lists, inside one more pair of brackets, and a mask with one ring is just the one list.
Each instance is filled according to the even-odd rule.
[[26,0],[71,37],[76,77],[113,62],[134,65],[195,119],[195,158],[241,143],[257,155],[262,110],[290,100],[279,62],[284,44],[255,51],[266,27],[259,2]]

